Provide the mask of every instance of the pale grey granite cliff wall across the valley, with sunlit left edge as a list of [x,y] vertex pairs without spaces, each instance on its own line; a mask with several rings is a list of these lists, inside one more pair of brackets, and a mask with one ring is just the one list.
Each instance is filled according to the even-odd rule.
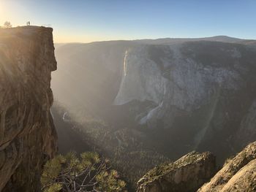
[[246,45],[185,42],[133,47],[124,57],[114,104],[151,101],[153,106],[137,113],[138,123],[158,128],[160,121],[162,128],[186,139],[181,129],[189,129],[190,139],[183,145],[197,148],[217,132],[252,130],[255,72],[255,49]]

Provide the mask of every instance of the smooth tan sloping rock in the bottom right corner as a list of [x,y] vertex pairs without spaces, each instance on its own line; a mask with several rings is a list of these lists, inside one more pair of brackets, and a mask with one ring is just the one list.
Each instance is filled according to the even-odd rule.
[[256,142],[249,144],[197,192],[256,191]]

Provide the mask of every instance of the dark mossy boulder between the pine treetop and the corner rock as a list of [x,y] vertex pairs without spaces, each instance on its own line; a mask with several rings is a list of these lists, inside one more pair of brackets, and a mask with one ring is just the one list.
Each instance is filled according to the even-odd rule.
[[149,171],[138,181],[137,192],[195,191],[214,175],[215,166],[211,153],[192,152]]

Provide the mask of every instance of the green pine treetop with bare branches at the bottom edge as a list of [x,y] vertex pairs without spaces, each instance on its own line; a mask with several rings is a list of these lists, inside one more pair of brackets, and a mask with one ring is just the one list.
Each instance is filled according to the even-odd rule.
[[45,164],[41,184],[44,192],[121,192],[126,186],[118,172],[110,169],[108,160],[92,152],[81,153],[80,157],[74,152],[56,155]]

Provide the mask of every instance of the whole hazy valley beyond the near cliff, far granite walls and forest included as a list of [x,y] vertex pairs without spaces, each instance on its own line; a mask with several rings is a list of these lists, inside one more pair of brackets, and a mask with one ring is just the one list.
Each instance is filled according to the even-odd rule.
[[83,140],[59,134],[59,150],[95,147],[132,183],[192,150],[223,164],[256,137],[255,48],[231,37],[58,46],[53,118]]

